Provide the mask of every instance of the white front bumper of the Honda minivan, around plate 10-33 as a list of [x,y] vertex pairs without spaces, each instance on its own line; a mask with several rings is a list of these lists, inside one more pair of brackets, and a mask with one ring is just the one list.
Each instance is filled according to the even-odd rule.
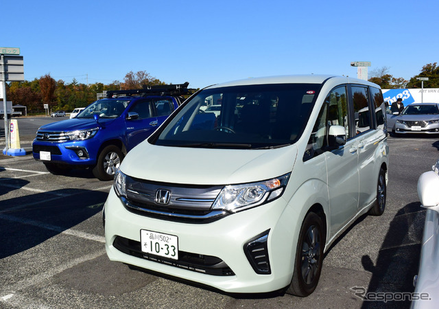
[[[226,216],[215,222],[189,224],[133,214],[123,206],[111,189],[104,205],[106,252],[112,261],[206,284],[229,293],[265,293],[279,290],[291,282],[294,266],[292,257],[296,254],[298,238],[294,234],[297,224],[294,218],[298,216],[285,214],[292,211],[292,207],[285,205],[285,200],[278,198],[271,203]],[[142,253],[128,254],[126,250],[119,250],[121,240],[127,244],[132,242],[135,247],[140,242],[141,229],[178,236],[179,258],[182,251],[200,257],[217,258],[228,267],[223,275],[215,275],[209,271],[196,271],[190,266],[184,268],[181,263],[180,266],[176,265],[178,263],[171,265],[166,261],[144,258]],[[250,264],[244,248],[250,240],[266,231],[269,231],[267,251],[270,274],[258,274]]]

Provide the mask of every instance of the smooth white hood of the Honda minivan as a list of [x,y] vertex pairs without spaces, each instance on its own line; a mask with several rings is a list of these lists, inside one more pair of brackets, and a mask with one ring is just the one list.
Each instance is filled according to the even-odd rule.
[[291,172],[296,145],[268,150],[155,146],[147,141],[128,152],[121,171],[149,181],[226,185],[271,179]]

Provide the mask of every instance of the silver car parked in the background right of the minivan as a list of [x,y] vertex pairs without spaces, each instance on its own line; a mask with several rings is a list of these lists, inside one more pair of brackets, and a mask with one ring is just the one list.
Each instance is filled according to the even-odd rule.
[[[390,116],[390,117],[389,117]],[[388,128],[394,134],[439,134],[439,104],[407,105],[401,115],[388,115]]]

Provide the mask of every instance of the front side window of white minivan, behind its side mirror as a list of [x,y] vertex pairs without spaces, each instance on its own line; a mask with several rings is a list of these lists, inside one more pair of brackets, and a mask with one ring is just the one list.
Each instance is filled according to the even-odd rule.
[[307,150],[305,150],[303,155],[303,161],[312,159],[324,152],[324,147],[327,146],[327,134],[330,126],[344,126],[347,139],[349,136],[349,122],[346,99],[345,86],[337,87],[327,95],[313,126]]

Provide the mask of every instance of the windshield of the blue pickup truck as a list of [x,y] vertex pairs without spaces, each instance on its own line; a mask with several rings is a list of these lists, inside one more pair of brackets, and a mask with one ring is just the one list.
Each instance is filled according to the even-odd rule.
[[130,99],[102,99],[88,105],[76,118],[93,118],[94,115],[99,115],[100,118],[117,118],[129,103]]

